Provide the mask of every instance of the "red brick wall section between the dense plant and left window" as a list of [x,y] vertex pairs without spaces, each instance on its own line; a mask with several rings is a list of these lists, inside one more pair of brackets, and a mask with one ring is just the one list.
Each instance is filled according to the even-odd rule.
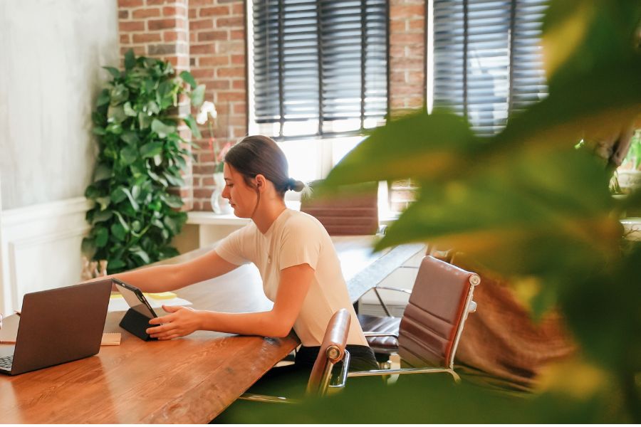
[[[189,63],[205,99],[218,112],[215,144],[236,142],[247,134],[245,5],[243,0],[189,0]],[[194,149],[194,210],[209,211],[214,189],[214,154],[202,127],[201,149]]]

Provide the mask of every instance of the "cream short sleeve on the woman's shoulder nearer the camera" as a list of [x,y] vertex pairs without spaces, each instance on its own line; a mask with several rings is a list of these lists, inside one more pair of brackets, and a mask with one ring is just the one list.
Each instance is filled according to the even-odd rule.
[[323,242],[319,227],[322,226],[311,218],[302,216],[287,221],[278,256],[280,270],[301,264],[309,264],[316,270]]

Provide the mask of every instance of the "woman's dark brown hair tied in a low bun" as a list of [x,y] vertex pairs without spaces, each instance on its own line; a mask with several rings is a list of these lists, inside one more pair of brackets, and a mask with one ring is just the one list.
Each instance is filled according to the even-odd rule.
[[270,137],[244,137],[225,154],[225,163],[243,175],[249,186],[254,186],[251,180],[261,174],[273,183],[281,196],[288,190],[302,191],[305,188],[303,182],[289,177],[285,153]]

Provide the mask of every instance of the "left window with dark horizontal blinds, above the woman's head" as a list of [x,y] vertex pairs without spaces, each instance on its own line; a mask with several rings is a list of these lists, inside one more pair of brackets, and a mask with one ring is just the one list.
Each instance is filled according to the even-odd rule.
[[388,14],[386,0],[254,0],[252,131],[283,140],[380,124]]

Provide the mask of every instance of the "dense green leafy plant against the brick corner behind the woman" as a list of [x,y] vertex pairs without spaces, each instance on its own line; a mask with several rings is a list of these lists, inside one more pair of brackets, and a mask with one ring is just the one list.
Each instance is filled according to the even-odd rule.
[[[83,252],[108,260],[109,272],[118,273],[177,255],[170,243],[187,214],[169,189],[182,186],[191,155],[177,130],[177,107],[184,95],[192,105],[202,104],[204,85],[188,72],[176,76],[170,63],[136,58],[132,51],[124,70],[105,69],[112,78],[92,114],[100,152],[85,191],[95,205],[86,215],[92,228]],[[184,121],[199,136],[193,117]]]

